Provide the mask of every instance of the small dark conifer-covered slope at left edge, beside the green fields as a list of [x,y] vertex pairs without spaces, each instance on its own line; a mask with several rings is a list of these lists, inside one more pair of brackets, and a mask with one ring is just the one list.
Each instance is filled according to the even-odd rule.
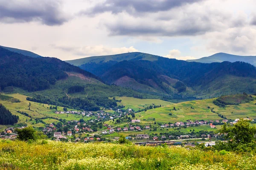
[[19,116],[12,115],[12,113],[0,103],[0,125],[13,125],[18,122],[18,119]]

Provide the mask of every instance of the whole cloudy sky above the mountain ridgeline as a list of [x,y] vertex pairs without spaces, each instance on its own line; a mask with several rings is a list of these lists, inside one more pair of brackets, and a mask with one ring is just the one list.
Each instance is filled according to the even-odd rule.
[[255,0],[0,0],[0,45],[62,60],[256,56]]

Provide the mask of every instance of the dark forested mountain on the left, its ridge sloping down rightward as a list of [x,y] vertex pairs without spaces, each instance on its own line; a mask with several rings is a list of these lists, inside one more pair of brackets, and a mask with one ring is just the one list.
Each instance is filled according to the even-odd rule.
[[45,90],[68,72],[100,80],[95,75],[57,58],[33,58],[0,48],[0,90],[14,86],[27,91]]

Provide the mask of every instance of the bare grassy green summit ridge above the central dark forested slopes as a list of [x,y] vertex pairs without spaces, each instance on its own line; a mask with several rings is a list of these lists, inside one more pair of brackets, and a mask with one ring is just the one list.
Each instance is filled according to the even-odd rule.
[[149,61],[155,61],[160,56],[152,55],[152,54],[146,54],[146,53],[140,53],[140,52],[131,52],[131,53],[124,53],[124,54],[115,54],[115,55],[108,55],[108,56],[93,56],[93,57],[85,57],[81,59],[74,59],[74,60],[68,60],[66,62],[79,66],[87,63],[102,63],[102,62],[120,62],[123,60],[149,60]]

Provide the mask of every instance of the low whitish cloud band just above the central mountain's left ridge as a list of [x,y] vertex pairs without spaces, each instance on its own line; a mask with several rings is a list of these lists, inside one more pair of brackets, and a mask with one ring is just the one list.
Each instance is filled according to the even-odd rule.
[[137,52],[138,50],[131,46],[121,47],[121,48],[111,48],[104,45],[94,45],[94,46],[65,46],[65,45],[50,45],[52,48],[59,49],[61,51],[70,52],[76,56],[83,56],[83,57],[90,57],[90,56],[101,56],[101,55],[111,55],[111,54],[121,54],[121,53],[128,53],[128,52]]

